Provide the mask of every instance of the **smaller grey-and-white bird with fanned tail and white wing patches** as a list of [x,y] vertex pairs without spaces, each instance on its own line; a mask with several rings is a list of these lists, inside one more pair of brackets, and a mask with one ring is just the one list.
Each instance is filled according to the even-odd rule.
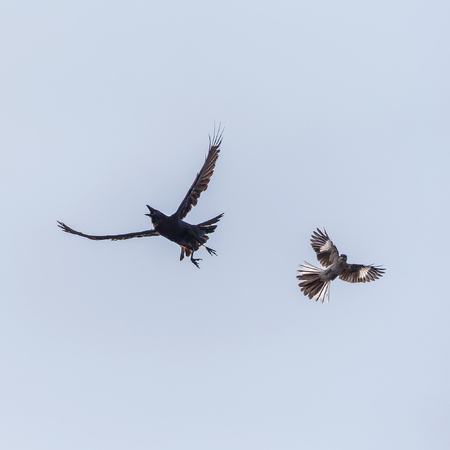
[[328,236],[325,228],[311,236],[311,246],[317,253],[317,259],[325,269],[320,269],[305,261],[297,271],[297,278],[301,280],[299,286],[302,292],[315,301],[322,303],[330,301],[331,282],[339,277],[349,283],[366,283],[378,279],[386,269],[379,266],[365,266],[363,264],[348,264],[347,255],[339,255],[339,251]]

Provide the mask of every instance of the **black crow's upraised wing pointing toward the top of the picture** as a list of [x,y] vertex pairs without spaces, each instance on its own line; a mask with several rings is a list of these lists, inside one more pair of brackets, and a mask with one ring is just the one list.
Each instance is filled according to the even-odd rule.
[[220,152],[220,144],[222,143],[222,131],[220,130],[220,125],[217,130],[214,129],[214,135],[211,139],[209,137],[209,151],[206,155],[205,163],[201,168],[200,172],[195,177],[192,186],[189,188],[186,197],[184,197],[180,206],[178,207],[177,214],[180,219],[184,219],[188,212],[192,209],[193,206],[197,204],[198,198],[203,191],[206,191],[208,188],[209,180],[211,179],[212,174],[214,173],[214,167],[217,162],[217,158],[219,157]]

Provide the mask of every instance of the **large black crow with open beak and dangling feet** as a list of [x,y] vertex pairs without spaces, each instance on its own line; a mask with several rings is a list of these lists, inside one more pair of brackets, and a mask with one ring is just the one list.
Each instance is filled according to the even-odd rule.
[[192,207],[197,204],[200,194],[203,191],[206,191],[206,189],[208,188],[209,180],[214,173],[217,158],[219,157],[220,145],[222,143],[222,134],[223,129],[221,131],[219,125],[217,132],[214,129],[212,139],[211,136],[209,137],[209,150],[208,154],[206,155],[203,167],[195,177],[192,186],[189,188],[189,191],[187,192],[180,206],[171,216],[166,216],[161,211],[158,211],[157,209],[147,205],[149,214],[146,214],[146,216],[150,217],[153,224],[153,229],[127,234],[93,236],[90,234],[84,234],[80,233],[79,231],[75,231],[72,228],[68,227],[66,224],[59,221],[58,226],[62,228],[66,233],[76,234],[78,236],[83,236],[95,241],[107,239],[111,241],[121,241],[124,239],[132,239],[136,237],[163,236],[170,241],[175,242],[181,247],[180,261],[185,256],[190,256],[192,263],[200,268],[198,261],[201,261],[201,259],[194,258],[194,252],[197,251],[200,247],[205,247],[210,255],[216,255],[215,250],[207,247],[205,244],[209,238],[208,234],[213,233],[217,228],[216,223],[221,219],[223,213],[219,214],[213,219],[207,220],[206,222],[202,222],[197,225],[191,225],[190,223],[185,222],[183,219],[186,217]]

